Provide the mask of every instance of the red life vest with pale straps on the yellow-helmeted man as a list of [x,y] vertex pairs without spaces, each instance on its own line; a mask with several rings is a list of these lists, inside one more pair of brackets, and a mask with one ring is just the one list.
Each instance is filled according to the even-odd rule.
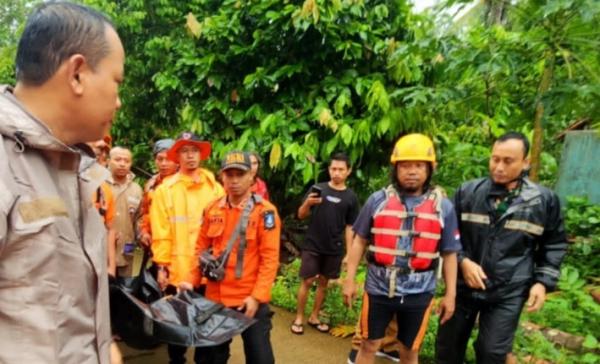
[[[428,270],[434,259],[439,257],[438,245],[441,239],[441,198],[430,192],[427,198],[413,211],[407,211],[393,187],[386,189],[383,207],[373,216],[373,244],[369,246],[375,263],[393,266],[397,256],[408,257],[409,267],[415,271]],[[404,220],[413,217],[410,230],[403,227]],[[411,239],[411,250],[400,250],[397,242],[400,237]]]

